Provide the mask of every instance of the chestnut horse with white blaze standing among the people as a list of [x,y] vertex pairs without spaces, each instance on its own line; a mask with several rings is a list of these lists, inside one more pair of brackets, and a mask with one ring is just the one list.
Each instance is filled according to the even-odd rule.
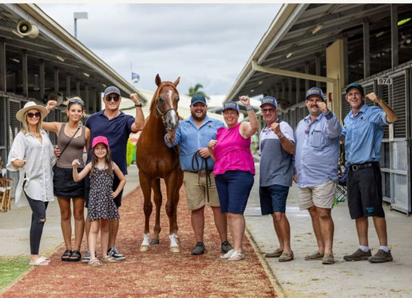
[[160,209],[161,190],[160,179],[166,184],[168,200],[165,205],[166,214],[169,218],[170,252],[179,253],[179,238],[177,237],[176,209],[179,203],[179,190],[183,183],[183,172],[180,168],[179,155],[176,148],[168,148],[165,145],[164,135],[176,132],[179,125],[177,114],[177,103],[179,92],[176,89],[180,78],[172,83],[161,82],[159,74],[156,76],[157,90],[150,104],[150,115],[146,119],[136,149],[136,164],[139,168],[139,181],[141,191],[144,195],[144,240],[140,251],[149,251],[149,219],[152,214],[151,190],[156,205],[156,220],[154,236],[150,244],[159,244],[160,233]]

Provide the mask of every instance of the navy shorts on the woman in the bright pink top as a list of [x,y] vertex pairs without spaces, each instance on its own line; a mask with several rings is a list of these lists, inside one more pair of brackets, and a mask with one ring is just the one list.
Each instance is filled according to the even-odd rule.
[[244,171],[227,171],[216,175],[222,213],[243,214],[254,181],[253,174]]

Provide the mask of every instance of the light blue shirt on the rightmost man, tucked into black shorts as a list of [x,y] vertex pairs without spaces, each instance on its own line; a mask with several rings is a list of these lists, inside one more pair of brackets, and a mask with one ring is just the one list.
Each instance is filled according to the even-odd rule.
[[378,106],[363,104],[356,116],[350,111],[344,123],[346,166],[379,162],[383,130],[388,125],[385,111]]

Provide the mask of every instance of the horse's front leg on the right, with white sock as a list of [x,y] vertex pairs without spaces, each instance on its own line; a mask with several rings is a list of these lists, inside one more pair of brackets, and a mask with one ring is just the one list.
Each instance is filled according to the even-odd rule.
[[177,210],[177,200],[179,201],[179,189],[178,188],[178,175],[177,172],[172,172],[167,179],[166,183],[166,192],[168,194],[168,201],[166,202],[165,209],[166,214],[169,218],[169,238],[170,238],[170,252],[171,253],[180,253],[179,248],[179,237],[177,236],[177,220],[176,220],[176,210]]

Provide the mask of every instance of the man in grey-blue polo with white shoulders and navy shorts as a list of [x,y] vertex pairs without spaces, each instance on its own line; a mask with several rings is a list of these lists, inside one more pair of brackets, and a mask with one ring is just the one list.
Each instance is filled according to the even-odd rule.
[[279,262],[293,260],[290,249],[290,225],[286,217],[286,199],[292,186],[295,139],[289,124],[277,118],[277,102],[265,96],[260,105],[266,126],[260,132],[259,196],[262,215],[271,214],[279,248],[265,257]]

